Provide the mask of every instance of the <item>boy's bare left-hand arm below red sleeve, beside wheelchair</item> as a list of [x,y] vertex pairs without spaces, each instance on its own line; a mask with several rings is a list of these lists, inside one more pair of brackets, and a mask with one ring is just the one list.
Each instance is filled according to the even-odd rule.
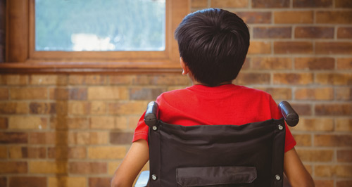
[[142,167],[149,160],[149,146],[144,139],[132,143],[130,150],[111,180],[111,187],[131,187]]

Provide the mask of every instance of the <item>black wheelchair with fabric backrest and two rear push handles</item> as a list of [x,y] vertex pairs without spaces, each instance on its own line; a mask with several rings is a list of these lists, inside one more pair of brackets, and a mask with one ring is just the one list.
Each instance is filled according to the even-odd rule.
[[158,104],[149,103],[150,171],[135,187],[282,187],[285,122],[294,127],[299,119],[287,101],[279,110],[279,120],[185,127],[162,122]]

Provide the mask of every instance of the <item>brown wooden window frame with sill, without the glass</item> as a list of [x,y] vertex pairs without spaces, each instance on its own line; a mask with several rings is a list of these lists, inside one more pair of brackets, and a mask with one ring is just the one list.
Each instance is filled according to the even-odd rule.
[[0,72],[176,72],[180,70],[177,25],[189,0],[165,0],[165,51],[35,51],[35,0],[6,4],[6,63]]

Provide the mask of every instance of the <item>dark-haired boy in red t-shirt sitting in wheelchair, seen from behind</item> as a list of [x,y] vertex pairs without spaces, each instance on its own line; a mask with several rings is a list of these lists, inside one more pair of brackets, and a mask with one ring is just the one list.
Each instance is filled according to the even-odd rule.
[[[182,75],[193,86],[158,96],[160,117],[169,124],[246,124],[282,116],[268,93],[232,81],[239,74],[249,49],[249,30],[234,13],[217,8],[187,15],[175,31]],[[148,127],[144,115],[134,131],[132,146],[116,170],[112,186],[132,186],[149,160]],[[292,186],[314,186],[298,158],[287,128],[284,172]],[[165,186],[167,187],[167,186]]]

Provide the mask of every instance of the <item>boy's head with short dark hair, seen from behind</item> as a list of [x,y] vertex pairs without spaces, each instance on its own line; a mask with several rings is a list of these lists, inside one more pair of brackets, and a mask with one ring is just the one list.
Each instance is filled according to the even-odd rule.
[[237,77],[249,49],[249,30],[218,8],[190,13],[175,30],[180,56],[197,82],[218,86]]

